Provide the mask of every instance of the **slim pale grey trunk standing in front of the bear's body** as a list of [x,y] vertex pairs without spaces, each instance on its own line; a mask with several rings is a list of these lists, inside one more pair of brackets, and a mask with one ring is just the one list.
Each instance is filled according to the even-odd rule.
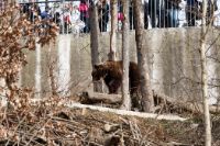
[[122,26],[122,105],[121,109],[131,110],[131,99],[129,92],[129,0],[123,0],[123,26]]

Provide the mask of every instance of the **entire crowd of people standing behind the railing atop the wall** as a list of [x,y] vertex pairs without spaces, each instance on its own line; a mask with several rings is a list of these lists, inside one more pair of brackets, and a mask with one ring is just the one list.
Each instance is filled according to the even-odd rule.
[[[144,27],[178,27],[179,11],[183,9],[180,3],[185,1],[186,25],[196,26],[197,20],[201,19],[202,2],[200,0],[143,0]],[[31,22],[35,19],[50,20],[61,26],[62,33],[69,31],[88,33],[89,25],[89,4],[91,0],[80,0],[79,4],[72,2],[64,4],[61,11],[52,11],[48,5],[42,11],[37,3],[23,3],[22,12],[29,15]],[[218,10],[217,0],[208,0],[207,23],[213,23],[213,12]],[[98,0],[98,20],[100,32],[108,31],[110,18],[110,3],[108,0]],[[123,7],[121,0],[118,0],[118,22],[122,23]],[[130,29],[135,29],[134,8],[130,2],[129,8]]]

